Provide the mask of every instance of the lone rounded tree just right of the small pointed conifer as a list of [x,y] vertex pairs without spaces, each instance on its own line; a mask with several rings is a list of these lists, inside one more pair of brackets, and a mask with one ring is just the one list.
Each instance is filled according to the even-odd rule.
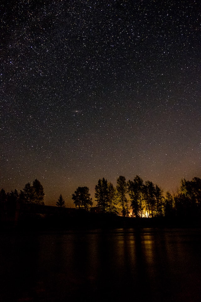
[[90,198],[88,187],[78,187],[74,194],[72,194],[73,204],[76,208],[84,208],[89,210],[93,205],[92,198]]

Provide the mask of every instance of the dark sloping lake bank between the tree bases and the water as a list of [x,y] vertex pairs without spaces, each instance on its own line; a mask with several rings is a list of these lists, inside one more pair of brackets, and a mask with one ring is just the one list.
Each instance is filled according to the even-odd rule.
[[13,215],[1,216],[0,229],[21,230],[71,230],[97,228],[135,228],[135,227],[200,227],[199,217],[123,217],[116,214],[100,213],[76,208],[59,208],[24,204]]

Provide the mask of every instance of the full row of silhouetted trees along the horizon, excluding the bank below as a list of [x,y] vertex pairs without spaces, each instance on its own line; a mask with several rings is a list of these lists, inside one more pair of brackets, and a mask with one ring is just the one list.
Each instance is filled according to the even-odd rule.
[[[35,179],[18,192],[0,191],[0,210],[8,216],[14,216],[21,204],[44,205],[44,189]],[[93,206],[88,187],[78,187],[72,194],[76,208],[89,211]],[[126,181],[124,176],[117,178],[116,187],[105,178],[99,179],[95,185],[95,202],[97,212],[119,214],[136,218],[199,218],[201,214],[201,179],[194,177],[191,181],[181,180],[181,187],[171,194],[153,182],[140,176]],[[60,194],[56,202],[58,207],[65,207],[65,200]]]

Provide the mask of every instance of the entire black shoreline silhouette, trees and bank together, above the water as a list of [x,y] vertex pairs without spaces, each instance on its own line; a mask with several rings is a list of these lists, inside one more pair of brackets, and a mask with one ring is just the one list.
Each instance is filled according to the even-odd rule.
[[[181,180],[177,192],[166,192],[151,181],[136,175],[126,181],[119,176],[116,187],[102,178],[95,185],[95,206],[88,187],[78,187],[72,194],[75,208],[66,208],[60,194],[55,206],[44,204],[44,189],[37,179],[18,192],[0,191],[1,226],[71,227],[154,224],[199,224],[201,214],[201,179]],[[123,220],[122,220],[123,219]],[[121,221],[121,223],[120,223]]]

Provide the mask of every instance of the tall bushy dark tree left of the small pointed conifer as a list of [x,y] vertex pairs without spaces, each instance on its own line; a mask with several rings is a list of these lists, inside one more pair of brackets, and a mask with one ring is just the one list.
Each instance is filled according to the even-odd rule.
[[20,190],[20,200],[24,203],[44,204],[45,194],[41,183],[35,179],[33,186],[30,182],[26,183],[23,190]]

